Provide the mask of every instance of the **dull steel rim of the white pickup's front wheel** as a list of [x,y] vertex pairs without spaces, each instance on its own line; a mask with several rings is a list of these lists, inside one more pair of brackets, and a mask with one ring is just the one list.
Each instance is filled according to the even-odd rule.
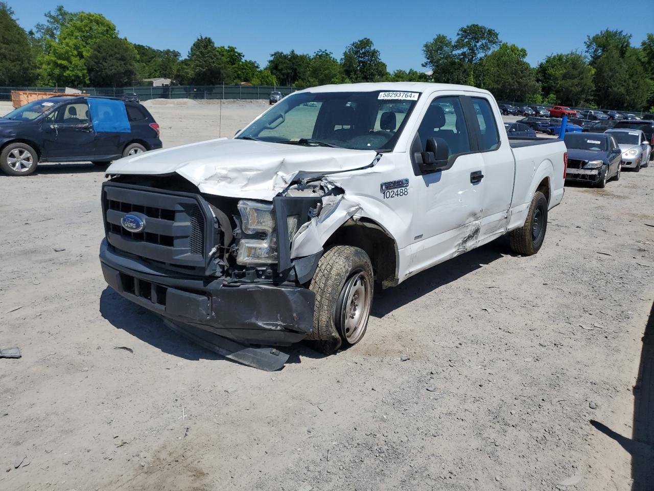
[[343,286],[343,302],[338,319],[341,335],[349,344],[355,344],[366,332],[366,323],[372,303],[372,282],[366,271],[351,274]]

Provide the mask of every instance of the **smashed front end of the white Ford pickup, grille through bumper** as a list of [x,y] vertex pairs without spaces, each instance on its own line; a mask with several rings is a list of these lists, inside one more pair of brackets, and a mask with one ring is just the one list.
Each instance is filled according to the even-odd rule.
[[279,346],[311,334],[307,285],[322,244],[359,209],[326,178],[293,182],[272,203],[202,193],[175,174],[117,175],[102,195],[107,283],[205,348],[266,370],[288,358]]

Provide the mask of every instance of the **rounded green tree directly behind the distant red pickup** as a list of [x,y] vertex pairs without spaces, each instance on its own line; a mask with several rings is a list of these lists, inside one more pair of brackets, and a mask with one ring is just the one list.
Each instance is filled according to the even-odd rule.
[[593,99],[593,68],[580,53],[553,54],[538,65],[537,79],[543,94],[554,94],[555,102],[588,105]]

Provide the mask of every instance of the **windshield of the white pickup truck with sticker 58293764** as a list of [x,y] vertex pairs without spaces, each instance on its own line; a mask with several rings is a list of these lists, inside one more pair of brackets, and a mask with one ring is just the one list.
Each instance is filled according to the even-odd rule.
[[419,95],[419,92],[385,90],[292,94],[252,122],[237,138],[289,145],[390,150]]

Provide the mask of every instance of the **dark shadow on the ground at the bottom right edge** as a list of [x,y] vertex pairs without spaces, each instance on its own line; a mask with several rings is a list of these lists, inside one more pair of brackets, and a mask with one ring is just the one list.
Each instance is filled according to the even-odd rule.
[[591,425],[631,455],[632,491],[654,490],[654,304],[645,327],[638,380],[634,386],[632,437],[624,437],[595,420],[591,420]]

